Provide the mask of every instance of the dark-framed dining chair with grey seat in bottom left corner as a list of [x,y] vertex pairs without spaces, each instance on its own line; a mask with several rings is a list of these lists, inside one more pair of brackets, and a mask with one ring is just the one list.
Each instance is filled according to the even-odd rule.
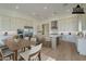
[[11,50],[9,50],[9,49],[2,50],[0,48],[0,60],[1,61],[5,60],[5,57],[10,57],[10,59],[13,57],[13,52]]

